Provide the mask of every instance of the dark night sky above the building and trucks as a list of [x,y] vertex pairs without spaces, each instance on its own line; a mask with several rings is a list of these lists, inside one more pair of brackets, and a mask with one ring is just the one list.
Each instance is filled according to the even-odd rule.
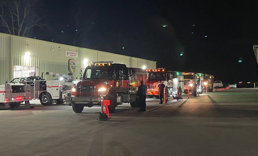
[[[252,49],[258,44],[256,1],[43,3],[44,24],[34,27],[28,37],[140,57],[157,61],[157,67],[203,72],[224,82],[257,82]],[[75,43],[79,29],[85,35]]]

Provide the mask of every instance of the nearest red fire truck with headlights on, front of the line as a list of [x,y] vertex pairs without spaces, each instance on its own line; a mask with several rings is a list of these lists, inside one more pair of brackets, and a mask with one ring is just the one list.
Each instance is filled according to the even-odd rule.
[[101,95],[104,100],[110,100],[110,113],[123,103],[137,107],[136,94],[140,81],[143,80],[147,85],[145,70],[127,68],[126,65],[116,64],[114,61],[91,62],[80,79],[72,88],[71,97],[65,98],[66,102],[71,103],[75,113],[82,112],[85,106],[100,106]]

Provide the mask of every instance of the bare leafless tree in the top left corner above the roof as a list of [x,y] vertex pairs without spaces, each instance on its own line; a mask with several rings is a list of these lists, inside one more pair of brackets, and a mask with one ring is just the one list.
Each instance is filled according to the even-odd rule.
[[11,35],[25,36],[31,27],[38,26],[42,17],[37,14],[40,0],[3,0],[0,18]]

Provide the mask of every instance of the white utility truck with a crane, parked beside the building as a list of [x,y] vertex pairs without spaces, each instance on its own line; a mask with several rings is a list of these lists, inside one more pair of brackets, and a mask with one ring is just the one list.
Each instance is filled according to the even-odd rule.
[[[71,94],[73,86],[72,77],[69,75],[46,72],[46,75],[58,76],[58,80],[30,80],[26,78],[20,83],[30,85],[30,93],[32,99],[39,99],[42,105],[52,105],[53,103],[64,103],[64,97]],[[34,76],[40,77],[40,76]],[[17,79],[17,78],[15,78]],[[20,79],[20,78],[18,78]],[[12,80],[14,81],[14,79]],[[12,82],[11,81],[11,82]],[[16,82],[16,81],[15,81]]]

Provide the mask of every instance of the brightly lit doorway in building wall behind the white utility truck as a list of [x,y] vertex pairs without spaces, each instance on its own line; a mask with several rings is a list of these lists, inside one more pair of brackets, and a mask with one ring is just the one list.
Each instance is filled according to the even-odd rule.
[[37,76],[38,69],[35,66],[13,66],[13,78]]

